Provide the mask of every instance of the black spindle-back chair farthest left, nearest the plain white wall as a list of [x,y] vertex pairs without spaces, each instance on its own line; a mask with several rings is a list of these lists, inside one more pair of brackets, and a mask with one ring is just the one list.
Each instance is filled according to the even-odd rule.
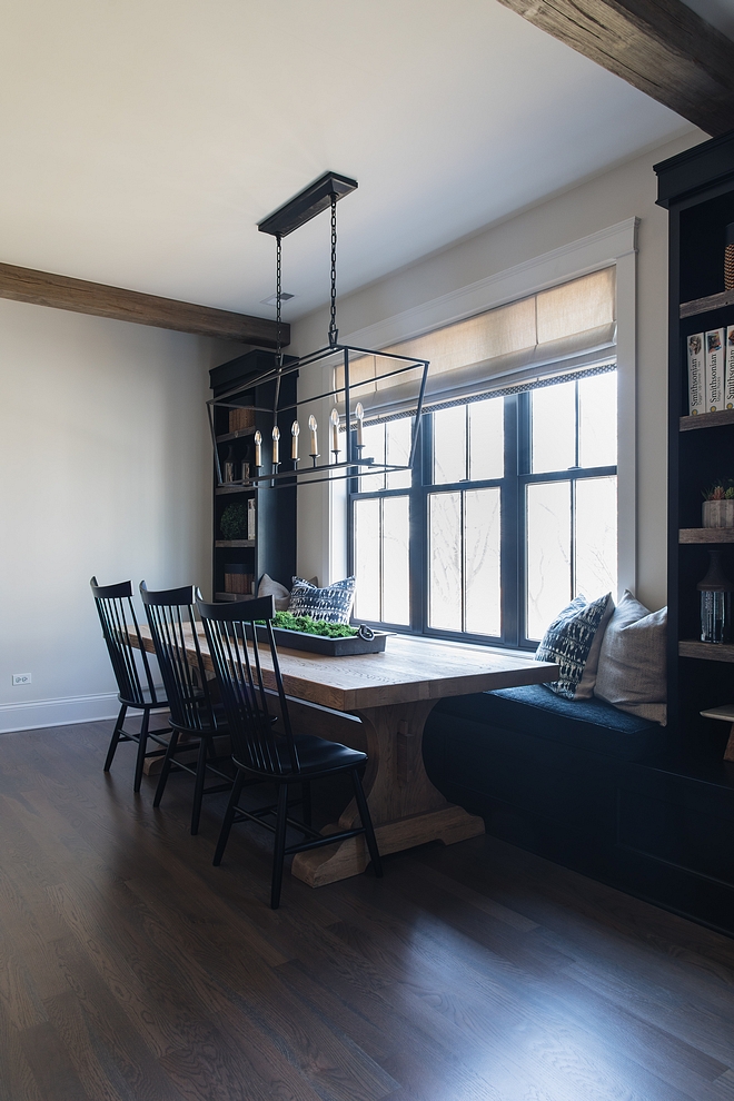
[[[165,748],[147,752],[148,741],[157,742],[161,746],[168,746],[168,741],[161,737],[168,733],[169,727],[163,731],[151,733],[148,730],[150,713],[152,711],[163,711],[168,707],[168,700],[160,691],[156,691],[153,678],[150,673],[148,655],[142,648],[140,628],[132,605],[132,584],[121,582],[119,585],[98,585],[97,578],[90,581],[92,596],[99,613],[99,621],[102,625],[102,637],[107,643],[107,649],[112,663],[112,671],[118,687],[118,700],[120,701],[120,712],[117,716],[112,737],[110,740],[107,758],[105,761],[105,772],[109,772],[115,757],[115,751],[120,741],[137,742],[138,755],[135,766],[135,782],[132,790],[140,791],[142,780],[142,766],[146,757],[162,756]],[[137,636],[138,648],[130,641],[131,635]],[[126,731],[125,720],[128,708],[142,712],[140,730],[137,734]]]

